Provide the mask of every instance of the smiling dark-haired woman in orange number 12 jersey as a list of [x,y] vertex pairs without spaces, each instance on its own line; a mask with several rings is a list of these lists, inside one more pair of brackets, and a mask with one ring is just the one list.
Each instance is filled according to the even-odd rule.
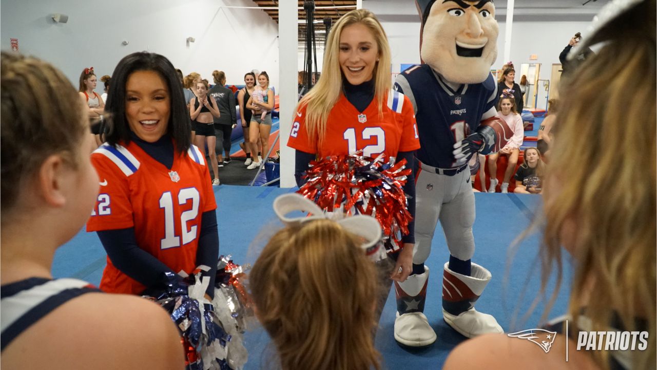
[[213,267],[217,207],[204,153],[190,143],[183,88],[162,55],[133,53],[112,76],[106,144],[91,155],[101,194],[87,223],[107,251],[101,289],[140,294],[163,273]]

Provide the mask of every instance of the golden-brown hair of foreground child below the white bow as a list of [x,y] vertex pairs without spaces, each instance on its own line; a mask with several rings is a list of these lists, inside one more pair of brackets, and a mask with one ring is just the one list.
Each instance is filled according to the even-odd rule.
[[377,284],[359,240],[328,220],[277,232],[249,275],[256,315],[286,370],[380,369]]

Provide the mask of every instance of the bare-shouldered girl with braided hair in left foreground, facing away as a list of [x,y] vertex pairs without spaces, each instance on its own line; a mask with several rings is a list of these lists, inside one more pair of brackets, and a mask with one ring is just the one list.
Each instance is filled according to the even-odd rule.
[[[148,359],[154,369],[182,369],[177,329],[161,307],[53,279],[55,250],[98,197],[87,109],[49,63],[3,52],[0,65],[0,366],[136,369]],[[38,232],[26,232],[34,225]]]

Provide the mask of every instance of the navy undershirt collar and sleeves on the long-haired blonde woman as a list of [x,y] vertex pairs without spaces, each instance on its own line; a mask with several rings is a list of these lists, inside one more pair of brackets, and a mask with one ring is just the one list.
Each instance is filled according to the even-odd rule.
[[[365,111],[365,108],[374,99],[374,79],[363,82],[360,85],[351,85],[348,81],[343,80],[342,86],[344,86],[343,91],[347,100],[359,112]],[[297,186],[301,187],[303,184],[306,184],[306,179],[302,177],[306,173],[310,161],[313,161],[315,157],[315,153],[296,151],[294,155],[294,178],[296,179]],[[397,161],[401,161],[401,159],[406,159],[406,168],[411,169],[411,174],[406,179],[403,190],[408,196],[408,211],[413,217],[408,225],[409,233],[401,237],[401,242],[415,243],[415,151],[400,151],[397,153]]]

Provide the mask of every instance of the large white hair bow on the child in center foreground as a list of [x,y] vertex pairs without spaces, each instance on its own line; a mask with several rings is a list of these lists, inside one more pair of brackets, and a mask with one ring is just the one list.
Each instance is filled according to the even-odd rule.
[[[301,194],[290,193],[283,194],[274,199],[274,212],[285,225],[297,225],[306,221],[328,219],[335,221],[351,234],[363,238],[361,248],[369,250],[381,241],[381,226],[374,217],[367,215],[355,215],[344,217],[342,209],[334,213],[325,213],[321,208],[310,199],[304,198]],[[308,213],[308,216],[286,217],[290,212],[301,211]],[[341,218],[342,217],[342,218]]]

